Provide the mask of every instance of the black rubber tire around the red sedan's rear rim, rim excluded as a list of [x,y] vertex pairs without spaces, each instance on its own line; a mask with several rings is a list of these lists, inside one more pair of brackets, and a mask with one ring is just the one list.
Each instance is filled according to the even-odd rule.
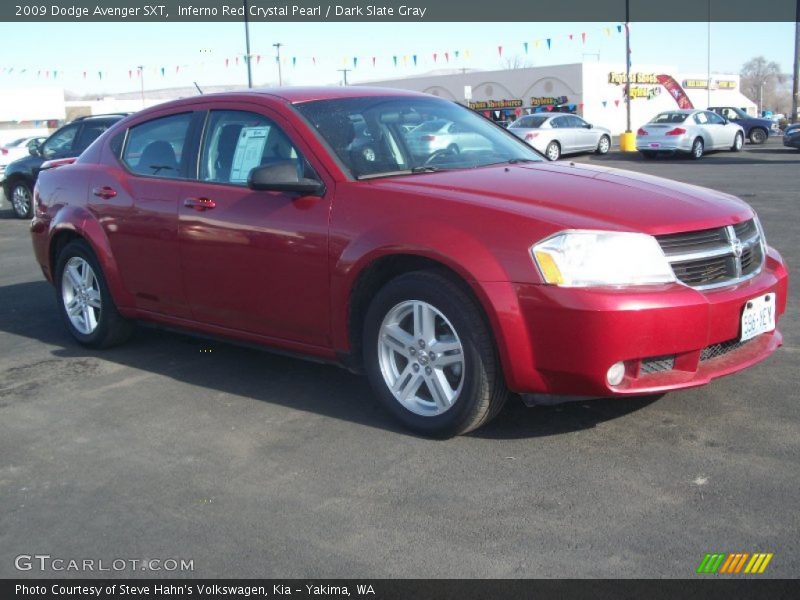
[[[79,331],[67,314],[64,301],[64,269],[73,257],[82,258],[94,272],[100,293],[97,326],[90,333]],[[79,343],[91,348],[110,348],[126,341],[133,333],[134,324],[119,314],[111,293],[108,291],[105,275],[89,244],[84,240],[74,240],[67,244],[56,259],[55,271],[56,301],[67,330]]]

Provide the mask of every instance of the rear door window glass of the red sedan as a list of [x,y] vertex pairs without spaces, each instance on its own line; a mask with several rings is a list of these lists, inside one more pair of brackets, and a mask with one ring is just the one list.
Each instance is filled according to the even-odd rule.
[[183,177],[180,164],[191,119],[191,113],[182,113],[131,127],[122,162],[138,175]]

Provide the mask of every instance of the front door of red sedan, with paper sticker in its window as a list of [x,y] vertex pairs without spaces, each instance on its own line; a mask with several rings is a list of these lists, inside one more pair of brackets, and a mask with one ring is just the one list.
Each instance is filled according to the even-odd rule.
[[273,161],[291,161],[304,176],[316,176],[319,165],[309,162],[313,157],[295,131],[262,105],[209,108],[196,178],[182,185],[179,207],[193,318],[329,346],[332,192],[316,197],[247,187],[249,172]]

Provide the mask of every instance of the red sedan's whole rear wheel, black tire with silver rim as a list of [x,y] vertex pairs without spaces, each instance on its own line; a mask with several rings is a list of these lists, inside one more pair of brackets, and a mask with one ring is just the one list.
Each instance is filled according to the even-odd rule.
[[85,241],[72,241],[61,251],[55,281],[64,323],[78,342],[107,348],[128,339],[133,323],[117,311],[103,271]]

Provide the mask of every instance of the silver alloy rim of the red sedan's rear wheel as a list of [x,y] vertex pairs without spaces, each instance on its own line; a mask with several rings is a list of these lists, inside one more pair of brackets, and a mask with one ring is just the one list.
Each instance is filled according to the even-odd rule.
[[83,335],[91,334],[100,322],[100,284],[91,265],[73,256],[64,266],[61,299],[72,326]]

